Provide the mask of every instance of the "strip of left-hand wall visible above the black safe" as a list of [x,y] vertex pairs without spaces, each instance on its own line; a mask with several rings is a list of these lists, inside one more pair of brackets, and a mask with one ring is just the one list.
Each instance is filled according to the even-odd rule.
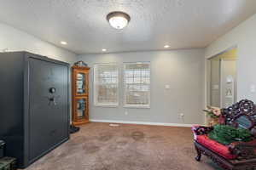
[[6,49],[8,51],[28,51],[33,54],[41,54],[66,61],[70,64],[77,60],[77,54],[64,48],[58,48],[49,42],[44,42],[38,37],[3,23],[0,23],[0,37],[0,52]]

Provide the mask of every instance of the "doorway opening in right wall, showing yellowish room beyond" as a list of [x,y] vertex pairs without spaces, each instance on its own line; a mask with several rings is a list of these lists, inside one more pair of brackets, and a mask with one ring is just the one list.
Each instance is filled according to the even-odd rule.
[[237,100],[237,48],[213,56],[210,61],[209,105],[228,107]]

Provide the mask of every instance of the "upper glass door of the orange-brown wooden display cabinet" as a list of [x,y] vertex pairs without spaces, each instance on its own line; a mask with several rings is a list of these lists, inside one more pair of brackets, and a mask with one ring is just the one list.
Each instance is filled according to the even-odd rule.
[[88,73],[84,71],[77,71],[75,74],[75,94],[85,95],[88,93]]

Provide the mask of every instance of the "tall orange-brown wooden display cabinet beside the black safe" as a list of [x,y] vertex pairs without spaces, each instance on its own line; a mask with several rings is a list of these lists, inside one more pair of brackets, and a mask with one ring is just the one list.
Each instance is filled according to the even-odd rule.
[[73,92],[73,125],[81,125],[89,122],[89,74],[87,66],[74,65],[72,78]]

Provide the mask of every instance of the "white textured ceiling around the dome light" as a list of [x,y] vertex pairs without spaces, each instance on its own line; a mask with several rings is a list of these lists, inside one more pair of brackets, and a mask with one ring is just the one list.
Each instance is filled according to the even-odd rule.
[[[131,16],[121,31],[116,10]],[[0,0],[0,21],[76,54],[202,48],[255,13],[255,0]]]

